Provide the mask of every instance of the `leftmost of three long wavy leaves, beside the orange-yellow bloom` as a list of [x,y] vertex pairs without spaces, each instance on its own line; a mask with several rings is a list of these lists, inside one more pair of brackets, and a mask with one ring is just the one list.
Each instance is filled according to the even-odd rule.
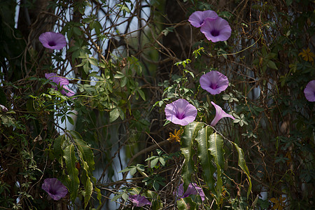
[[195,162],[193,162],[193,155],[195,154],[195,151],[193,149],[193,140],[197,136],[197,132],[203,126],[204,123],[200,122],[193,122],[186,125],[183,137],[181,138],[181,153],[185,157],[185,162],[182,169],[185,190],[191,182],[191,175],[193,174],[195,168]]

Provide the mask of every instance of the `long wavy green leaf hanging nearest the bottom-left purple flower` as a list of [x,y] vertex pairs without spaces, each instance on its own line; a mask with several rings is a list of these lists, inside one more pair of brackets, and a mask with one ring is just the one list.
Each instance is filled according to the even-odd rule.
[[66,172],[69,174],[69,191],[72,202],[78,196],[78,186],[80,181],[78,179],[78,169],[76,169],[76,156],[74,155],[74,145],[70,144],[64,148],[64,160],[66,162]]

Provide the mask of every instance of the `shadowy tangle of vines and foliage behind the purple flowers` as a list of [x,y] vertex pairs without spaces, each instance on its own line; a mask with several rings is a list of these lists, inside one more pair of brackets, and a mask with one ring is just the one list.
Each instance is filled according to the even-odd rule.
[[[187,21],[209,9],[230,23],[228,41],[207,41]],[[311,0],[1,1],[0,207],[130,209],[128,195],[146,193],[144,209],[311,209],[314,102],[303,90],[315,78],[314,9]],[[66,48],[43,48],[45,31],[64,34]],[[200,87],[210,70],[228,76],[223,94]],[[52,90],[50,72],[76,95]],[[196,106],[196,121],[211,122],[211,101],[235,116],[216,127],[225,158],[217,202],[194,159],[207,202],[176,204],[184,158],[167,141],[180,127],[164,108],[179,98]],[[249,197],[229,142],[244,151]],[[58,202],[41,189],[52,177],[70,191]]]

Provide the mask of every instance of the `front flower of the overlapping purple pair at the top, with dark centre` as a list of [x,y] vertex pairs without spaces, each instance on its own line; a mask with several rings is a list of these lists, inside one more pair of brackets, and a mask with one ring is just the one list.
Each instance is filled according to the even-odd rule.
[[202,31],[209,41],[217,42],[228,40],[231,36],[232,29],[228,21],[218,17],[216,19],[206,18],[200,31]]

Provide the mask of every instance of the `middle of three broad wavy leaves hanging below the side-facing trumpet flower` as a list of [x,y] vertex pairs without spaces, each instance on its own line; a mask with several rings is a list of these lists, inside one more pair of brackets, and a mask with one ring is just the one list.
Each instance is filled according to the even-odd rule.
[[202,128],[197,134],[196,141],[198,143],[197,155],[202,166],[202,176],[210,190],[214,192],[214,172],[216,172],[216,168],[211,163],[213,157],[209,153],[209,137],[213,132],[214,130],[209,126]]

